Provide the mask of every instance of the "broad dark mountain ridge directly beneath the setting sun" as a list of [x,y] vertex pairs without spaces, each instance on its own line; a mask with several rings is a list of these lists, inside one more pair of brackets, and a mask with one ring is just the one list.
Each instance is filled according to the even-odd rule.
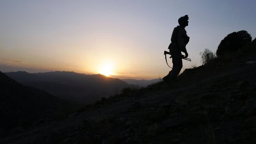
[[5,74],[24,85],[33,86],[60,98],[80,103],[92,103],[101,97],[119,93],[123,88],[136,87],[120,79],[100,74],[86,75],[67,71],[45,73],[18,71]]

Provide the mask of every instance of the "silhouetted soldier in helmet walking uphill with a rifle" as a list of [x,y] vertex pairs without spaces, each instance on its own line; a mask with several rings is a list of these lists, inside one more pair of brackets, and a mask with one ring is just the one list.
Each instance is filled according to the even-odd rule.
[[[178,22],[179,26],[173,29],[171,44],[168,47],[172,56],[172,70],[163,78],[164,81],[175,80],[182,68],[182,58],[188,57],[186,45],[189,42],[189,37],[185,30],[185,27],[188,26],[188,15],[180,17]],[[184,52],[185,56],[182,56],[181,52]]]

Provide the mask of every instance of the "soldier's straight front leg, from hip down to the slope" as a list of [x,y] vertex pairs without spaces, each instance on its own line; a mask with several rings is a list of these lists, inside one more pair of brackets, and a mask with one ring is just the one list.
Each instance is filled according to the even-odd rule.
[[173,79],[176,79],[177,76],[179,75],[180,73],[180,70],[182,68],[182,58],[181,56],[174,56],[172,57],[172,72],[171,72],[171,75],[170,75],[170,79],[173,80]]

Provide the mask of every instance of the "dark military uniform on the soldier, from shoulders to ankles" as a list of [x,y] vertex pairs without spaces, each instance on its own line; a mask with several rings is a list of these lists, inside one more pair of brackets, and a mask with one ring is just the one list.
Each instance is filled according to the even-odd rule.
[[187,36],[187,32],[185,28],[182,26],[177,26],[173,29],[171,44],[168,49],[170,50],[170,54],[172,56],[172,71],[170,71],[170,79],[175,79],[182,68],[182,56],[181,52],[187,52],[186,45],[188,44],[189,37]]

